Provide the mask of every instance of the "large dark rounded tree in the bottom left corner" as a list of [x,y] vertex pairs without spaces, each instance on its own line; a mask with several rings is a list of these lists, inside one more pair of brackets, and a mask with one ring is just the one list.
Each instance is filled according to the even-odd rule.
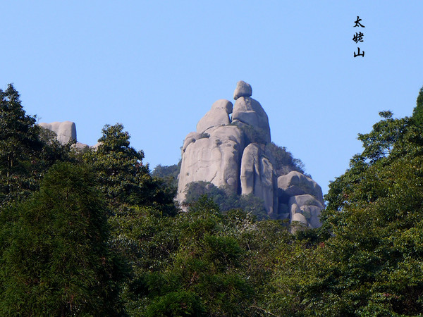
[[115,316],[123,269],[86,166],[58,163],[34,197],[0,214],[0,311]]

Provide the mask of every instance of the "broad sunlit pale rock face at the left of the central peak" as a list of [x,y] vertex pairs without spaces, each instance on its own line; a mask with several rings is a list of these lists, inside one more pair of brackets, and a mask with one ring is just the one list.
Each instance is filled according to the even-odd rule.
[[[195,142],[185,139],[178,177],[178,201],[185,199],[185,189],[190,182],[212,182],[217,187],[229,186],[238,192],[240,161],[244,148],[243,134],[234,125],[223,125],[207,130],[209,137],[188,135]],[[187,137],[188,138],[188,137]]]

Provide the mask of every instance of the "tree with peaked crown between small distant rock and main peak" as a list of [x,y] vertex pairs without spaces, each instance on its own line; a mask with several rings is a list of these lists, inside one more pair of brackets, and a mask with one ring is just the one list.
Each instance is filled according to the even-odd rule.
[[111,206],[153,206],[174,215],[176,189],[149,175],[148,165],[142,163],[144,153],[130,147],[130,135],[123,125],[105,125],[102,133],[101,144],[85,154],[85,161],[96,170],[99,189]]

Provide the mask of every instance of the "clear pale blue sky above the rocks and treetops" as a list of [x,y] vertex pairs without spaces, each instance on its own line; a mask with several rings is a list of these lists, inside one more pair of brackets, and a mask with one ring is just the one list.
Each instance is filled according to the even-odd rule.
[[185,135],[245,80],[272,141],[326,193],[379,111],[411,115],[422,13],[422,0],[2,1],[0,87],[12,82],[40,122],[74,121],[82,143],[123,123],[153,169],[177,163]]

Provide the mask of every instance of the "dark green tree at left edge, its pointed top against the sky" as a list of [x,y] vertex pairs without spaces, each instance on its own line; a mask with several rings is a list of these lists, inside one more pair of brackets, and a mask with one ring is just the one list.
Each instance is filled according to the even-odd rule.
[[35,121],[13,85],[0,89],[0,206],[28,197],[54,162],[70,159],[71,144],[59,144]]

